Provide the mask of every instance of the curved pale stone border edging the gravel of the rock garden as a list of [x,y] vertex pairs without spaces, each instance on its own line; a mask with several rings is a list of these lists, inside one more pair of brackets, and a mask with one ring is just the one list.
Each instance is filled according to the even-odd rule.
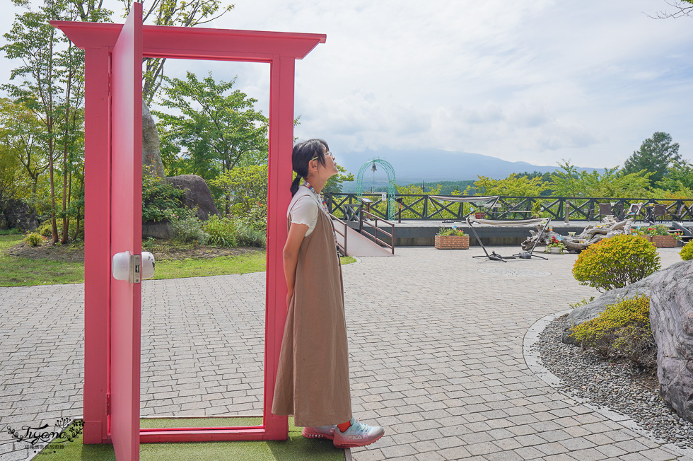
[[662,440],[654,436],[653,433],[651,433],[650,431],[646,431],[645,429],[638,426],[638,424],[634,421],[634,419],[631,419],[630,416],[618,414],[604,407],[597,407],[596,405],[591,404],[590,400],[588,399],[584,399],[582,397],[577,397],[574,395],[568,395],[566,394],[566,392],[564,392],[564,390],[562,389],[561,379],[557,375],[551,373],[551,371],[549,371],[549,369],[544,366],[544,364],[542,363],[540,351],[532,350],[532,346],[539,342],[539,335],[541,334],[541,332],[544,331],[544,329],[549,325],[550,322],[553,322],[558,317],[561,317],[561,315],[571,312],[571,310],[572,309],[566,309],[561,310],[560,312],[555,314],[546,315],[534,322],[534,324],[532,324],[532,326],[527,330],[527,332],[525,333],[525,337],[523,338],[522,349],[523,356],[525,358],[525,363],[527,364],[530,371],[537,375],[537,377],[544,381],[544,383],[547,383],[547,385],[557,390],[557,392],[560,392],[566,397],[575,400],[579,404],[583,404],[584,406],[588,407],[594,412],[597,412],[605,418],[610,419],[611,421],[614,421],[615,423],[618,423],[621,426],[624,426],[624,428],[630,429],[631,431],[639,433],[641,436],[645,436],[650,440],[659,443],[661,448],[666,448],[672,451],[675,455],[691,457],[693,455],[692,449],[684,449],[678,447],[677,445],[674,445],[673,443],[665,443],[665,440]]

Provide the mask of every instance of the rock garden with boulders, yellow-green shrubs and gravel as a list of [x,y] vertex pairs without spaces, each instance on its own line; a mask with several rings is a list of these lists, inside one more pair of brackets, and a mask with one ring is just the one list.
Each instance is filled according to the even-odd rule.
[[642,235],[600,238],[573,276],[601,295],[571,305],[533,347],[569,394],[693,448],[693,243],[680,256],[660,270]]

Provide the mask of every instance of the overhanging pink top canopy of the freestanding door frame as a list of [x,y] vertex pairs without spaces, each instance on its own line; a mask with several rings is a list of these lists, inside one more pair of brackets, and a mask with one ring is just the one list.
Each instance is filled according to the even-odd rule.
[[[50,21],[50,25],[62,30],[78,48],[107,47],[109,50],[123,26],[83,21]],[[302,59],[319,43],[325,43],[326,38],[325,34],[143,25],[142,55],[272,62],[276,57]]]

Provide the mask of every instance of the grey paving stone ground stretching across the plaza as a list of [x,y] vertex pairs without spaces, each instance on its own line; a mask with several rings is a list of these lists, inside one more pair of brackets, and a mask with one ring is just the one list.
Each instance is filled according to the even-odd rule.
[[[692,460],[525,363],[534,322],[596,294],[573,279],[576,255],[396,253],[344,266],[354,416],[386,428],[354,460]],[[677,249],[660,256],[663,267],[680,260]],[[143,281],[142,416],[262,414],[264,281]],[[82,382],[83,284],[0,288],[0,460],[25,457],[6,426],[81,418]]]

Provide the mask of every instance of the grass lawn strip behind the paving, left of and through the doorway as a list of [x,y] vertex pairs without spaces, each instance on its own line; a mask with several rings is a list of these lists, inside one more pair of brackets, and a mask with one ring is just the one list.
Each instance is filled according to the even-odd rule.
[[[0,235],[0,286],[33,286],[54,284],[80,284],[84,282],[84,263],[56,258],[11,256],[6,252],[17,245],[23,235]],[[62,251],[59,246],[52,250]],[[83,248],[72,245],[71,252]],[[145,249],[146,251],[146,249]],[[152,251],[156,255],[156,251]],[[156,257],[156,256],[155,256]],[[262,248],[240,255],[219,257],[181,257],[156,261],[152,279],[181,279],[210,275],[246,274],[263,272],[267,254]],[[353,257],[342,257],[342,264],[356,262]]]

